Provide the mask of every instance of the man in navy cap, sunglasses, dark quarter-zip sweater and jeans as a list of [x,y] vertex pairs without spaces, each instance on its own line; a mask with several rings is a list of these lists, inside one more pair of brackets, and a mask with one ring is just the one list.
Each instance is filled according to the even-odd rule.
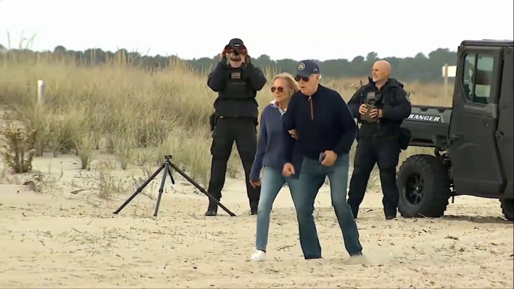
[[332,206],[342,231],[344,246],[351,259],[362,256],[357,224],[346,203],[348,153],[357,126],[341,95],[319,84],[320,69],[314,61],[298,64],[295,80],[300,91],[295,93],[283,116],[285,165],[284,176],[296,173],[292,151],[297,138],[304,159],[300,173],[300,190],[296,202],[300,244],[305,259],[321,258],[321,247],[314,224],[314,201],[328,176]]

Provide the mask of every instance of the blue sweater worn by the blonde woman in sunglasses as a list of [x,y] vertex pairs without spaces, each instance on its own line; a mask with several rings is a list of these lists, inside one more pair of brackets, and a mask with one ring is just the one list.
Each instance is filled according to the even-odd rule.
[[[292,178],[298,178],[302,166],[303,156],[292,140],[291,155],[292,164],[295,166],[295,174]],[[267,105],[261,115],[261,131],[257,145],[257,153],[250,172],[250,180],[259,180],[263,166],[276,169],[282,173],[284,168],[284,138],[282,137],[282,115],[279,107],[273,103]]]

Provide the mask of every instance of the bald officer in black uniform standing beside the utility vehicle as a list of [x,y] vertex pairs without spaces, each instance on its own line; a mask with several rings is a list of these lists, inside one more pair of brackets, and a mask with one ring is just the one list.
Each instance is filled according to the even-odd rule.
[[390,78],[390,73],[391,65],[387,61],[375,62],[373,78],[348,101],[350,111],[361,124],[347,201],[354,218],[375,163],[380,171],[384,214],[387,220],[396,218],[399,198],[396,166],[400,150],[407,148],[410,137],[400,125],[409,117],[411,103],[403,84]]

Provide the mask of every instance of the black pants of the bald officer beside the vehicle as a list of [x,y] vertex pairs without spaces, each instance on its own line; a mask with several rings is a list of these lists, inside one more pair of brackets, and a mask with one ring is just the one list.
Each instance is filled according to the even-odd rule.
[[370,173],[378,165],[382,185],[382,204],[386,216],[396,216],[398,207],[398,187],[396,186],[396,166],[400,155],[398,139],[394,136],[360,138],[354,159],[354,171],[350,179],[348,205],[357,218],[359,206],[364,199]]

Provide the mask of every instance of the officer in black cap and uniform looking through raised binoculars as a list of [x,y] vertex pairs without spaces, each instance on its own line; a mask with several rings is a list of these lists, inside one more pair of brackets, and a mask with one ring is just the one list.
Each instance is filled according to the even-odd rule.
[[[227,64],[227,58],[229,63]],[[262,71],[253,66],[241,39],[234,38],[223,49],[220,61],[207,80],[218,93],[211,116],[212,166],[208,192],[219,201],[225,185],[227,161],[235,141],[245,170],[250,213],[257,214],[260,187],[253,188],[249,176],[257,150],[258,103],[255,96],[266,84]],[[210,201],[206,216],[214,216],[217,205]]]

